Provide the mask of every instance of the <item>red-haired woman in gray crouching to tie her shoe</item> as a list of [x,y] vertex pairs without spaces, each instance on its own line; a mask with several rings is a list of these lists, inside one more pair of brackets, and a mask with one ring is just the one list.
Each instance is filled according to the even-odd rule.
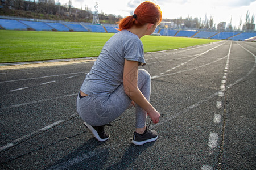
[[145,65],[144,35],[151,35],[162,20],[162,11],[152,2],[141,3],[134,15],[119,22],[119,32],[112,36],[82,83],[77,97],[77,111],[98,141],[109,134],[104,126],[119,117],[131,104],[135,106],[136,129],[132,143],[155,141],[158,133],[146,126],[147,114],[154,124],[160,114],[149,103],[151,77],[138,66]]

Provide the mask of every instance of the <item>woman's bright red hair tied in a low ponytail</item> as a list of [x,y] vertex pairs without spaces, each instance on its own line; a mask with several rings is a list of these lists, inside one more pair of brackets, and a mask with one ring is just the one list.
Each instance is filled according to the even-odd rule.
[[157,24],[162,20],[162,11],[160,7],[150,1],[141,3],[135,9],[134,14],[135,17],[133,15],[127,16],[118,22],[119,31],[122,31],[123,29],[130,29],[133,25],[141,27],[147,23]]

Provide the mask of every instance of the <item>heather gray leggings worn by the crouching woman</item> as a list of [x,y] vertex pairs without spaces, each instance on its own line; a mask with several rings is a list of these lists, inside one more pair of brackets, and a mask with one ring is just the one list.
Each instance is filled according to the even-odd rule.
[[[138,69],[138,88],[146,99],[150,100],[151,77],[144,69]],[[82,120],[92,126],[109,124],[119,117],[131,104],[131,99],[125,94],[123,84],[108,97],[86,96],[77,97],[77,112]],[[135,104],[136,128],[146,126],[147,112]]]

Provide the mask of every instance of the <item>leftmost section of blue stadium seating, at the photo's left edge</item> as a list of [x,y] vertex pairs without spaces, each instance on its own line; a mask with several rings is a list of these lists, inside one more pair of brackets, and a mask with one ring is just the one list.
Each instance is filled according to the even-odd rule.
[[18,22],[18,20],[12,19],[0,19],[0,26],[4,29],[9,30],[28,30],[29,27],[23,23]]

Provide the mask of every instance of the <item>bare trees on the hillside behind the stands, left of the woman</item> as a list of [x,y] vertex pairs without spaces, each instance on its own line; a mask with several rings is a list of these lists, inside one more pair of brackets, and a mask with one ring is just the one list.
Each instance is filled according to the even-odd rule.
[[[66,5],[56,4],[54,1],[46,0],[35,2],[24,0],[0,0],[0,15],[19,16],[25,18],[37,18],[48,20],[64,20],[68,22],[92,22],[93,12],[90,8],[85,10],[74,8],[72,1]],[[113,14],[98,14],[101,23],[114,24],[121,19],[121,16]]]

